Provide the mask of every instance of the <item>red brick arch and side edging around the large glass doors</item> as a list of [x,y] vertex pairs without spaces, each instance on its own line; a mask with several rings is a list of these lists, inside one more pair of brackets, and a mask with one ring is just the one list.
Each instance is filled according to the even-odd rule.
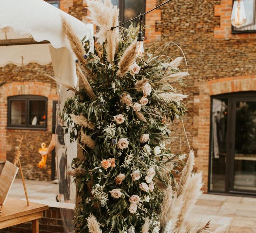
[[[198,115],[193,118],[194,128],[197,129],[193,148],[197,149],[196,166],[202,169],[204,180],[208,180],[209,169],[211,96],[245,91],[256,91],[256,75],[221,78],[199,84],[199,95],[194,96]],[[204,183],[203,190],[207,191],[207,183]]]

